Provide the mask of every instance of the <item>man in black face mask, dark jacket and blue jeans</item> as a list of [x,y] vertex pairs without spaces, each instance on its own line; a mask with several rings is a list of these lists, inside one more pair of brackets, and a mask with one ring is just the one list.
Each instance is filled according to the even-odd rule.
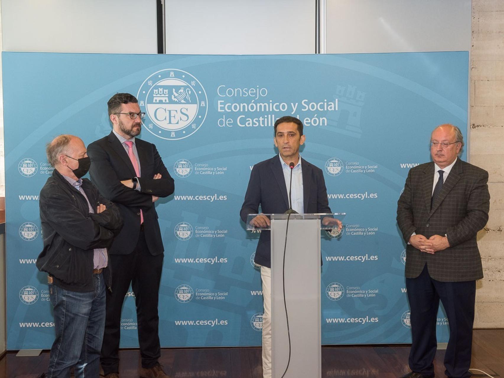
[[119,209],[87,178],[90,159],[82,140],[60,135],[47,145],[54,167],[40,191],[44,248],[37,268],[48,273],[56,339],[48,376],[98,376],[110,290],[107,247],[122,227]]

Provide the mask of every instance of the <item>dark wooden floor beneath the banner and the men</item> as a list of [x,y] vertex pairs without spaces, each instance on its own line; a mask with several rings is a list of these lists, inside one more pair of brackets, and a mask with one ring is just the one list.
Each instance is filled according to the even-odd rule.
[[[322,349],[323,377],[395,378],[409,371],[408,346],[335,346]],[[137,378],[138,350],[121,350],[120,377]],[[436,377],[445,377],[444,350],[434,359]],[[49,352],[37,357],[7,353],[0,360],[0,377],[35,378],[47,369]],[[261,348],[163,349],[160,362],[173,378],[262,378]],[[504,378],[504,330],[475,330],[471,368]],[[474,372],[473,376],[485,376]],[[293,376],[293,375],[292,375]],[[289,372],[286,378],[289,377]],[[311,377],[306,377],[311,378]]]

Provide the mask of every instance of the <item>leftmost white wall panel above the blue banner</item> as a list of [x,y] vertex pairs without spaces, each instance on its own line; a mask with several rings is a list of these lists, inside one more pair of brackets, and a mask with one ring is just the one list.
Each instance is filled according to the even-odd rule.
[[154,0],[2,0],[4,51],[156,53]]

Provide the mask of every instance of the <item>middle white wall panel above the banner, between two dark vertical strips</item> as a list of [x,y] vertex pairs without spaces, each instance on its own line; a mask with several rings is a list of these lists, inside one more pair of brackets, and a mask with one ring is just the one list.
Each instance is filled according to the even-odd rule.
[[168,54],[315,52],[314,0],[166,0]]

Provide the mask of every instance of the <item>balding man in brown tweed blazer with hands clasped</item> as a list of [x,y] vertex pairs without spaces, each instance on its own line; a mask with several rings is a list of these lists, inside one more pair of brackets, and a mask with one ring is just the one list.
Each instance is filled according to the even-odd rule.
[[460,160],[460,130],[442,124],[431,135],[432,162],[408,173],[397,223],[407,242],[406,288],[413,344],[408,378],[433,377],[439,299],[450,323],[446,375],[469,377],[476,280],[483,278],[476,233],[488,220],[488,172]]

